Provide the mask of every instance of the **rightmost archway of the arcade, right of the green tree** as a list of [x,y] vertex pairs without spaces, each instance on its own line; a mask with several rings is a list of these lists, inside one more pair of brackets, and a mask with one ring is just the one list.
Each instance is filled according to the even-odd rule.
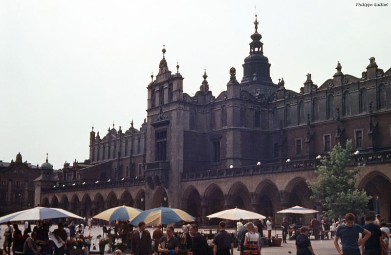
[[363,177],[358,185],[359,189],[365,190],[372,198],[369,200],[369,210],[375,210],[376,197],[379,197],[380,215],[386,222],[391,220],[391,180],[384,174],[373,171]]

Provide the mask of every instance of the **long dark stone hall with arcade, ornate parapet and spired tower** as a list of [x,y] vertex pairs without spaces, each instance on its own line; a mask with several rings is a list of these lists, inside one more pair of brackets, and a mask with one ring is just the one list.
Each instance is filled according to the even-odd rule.
[[66,185],[60,180],[43,189],[41,203],[83,216],[122,203],[171,205],[206,225],[216,223],[207,215],[235,206],[267,216],[294,205],[321,209],[305,181],[316,179],[318,155],[351,139],[359,151],[353,165],[365,164],[357,186],[380,197],[390,221],[391,69],[378,68],[372,57],[357,78],[338,62],[322,85],[307,74],[300,92],[287,90],[283,79],[275,84],[270,78],[254,23],[243,78],[239,83],[232,67],[218,96],[209,90],[206,71],[195,96],[184,93],[179,66],[176,73],[169,70],[163,48],[140,130],[132,123],[125,133],[113,126],[102,139],[92,130],[91,165]]

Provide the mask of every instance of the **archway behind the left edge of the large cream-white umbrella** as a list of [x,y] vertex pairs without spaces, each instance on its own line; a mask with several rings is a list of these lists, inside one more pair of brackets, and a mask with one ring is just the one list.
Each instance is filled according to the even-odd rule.
[[210,185],[205,191],[203,200],[207,205],[206,215],[203,215],[204,225],[218,225],[220,219],[207,219],[206,216],[224,210],[225,199],[220,187],[217,184]]

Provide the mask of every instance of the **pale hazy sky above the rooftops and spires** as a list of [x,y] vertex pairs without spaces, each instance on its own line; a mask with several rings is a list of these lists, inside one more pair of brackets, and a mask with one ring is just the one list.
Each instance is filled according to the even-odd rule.
[[[353,0],[0,0],[0,160],[55,169],[89,156],[89,132],[139,128],[162,48],[183,90],[199,90],[204,68],[215,96],[249,53],[257,6],[270,75],[299,92],[342,72],[361,77],[375,57],[391,67],[389,6]],[[370,2],[374,3],[374,2]]]

